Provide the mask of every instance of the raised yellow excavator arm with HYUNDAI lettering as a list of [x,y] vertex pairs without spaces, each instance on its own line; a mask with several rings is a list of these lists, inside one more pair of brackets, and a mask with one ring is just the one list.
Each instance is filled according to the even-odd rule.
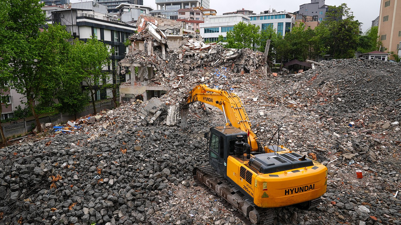
[[261,149],[255,133],[251,130],[251,124],[249,123],[247,113],[239,97],[227,90],[208,88],[205,84],[195,86],[194,89],[184,96],[181,107],[182,128],[187,127],[188,106],[196,101],[205,102],[222,110],[226,125],[229,125],[228,119],[233,127],[248,133],[248,143],[251,145],[251,151],[258,151]]

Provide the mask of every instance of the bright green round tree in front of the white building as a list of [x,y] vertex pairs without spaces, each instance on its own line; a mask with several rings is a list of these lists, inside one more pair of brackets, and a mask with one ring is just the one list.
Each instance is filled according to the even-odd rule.
[[259,38],[259,26],[241,21],[234,25],[233,30],[227,32],[226,48],[251,48],[255,50]]

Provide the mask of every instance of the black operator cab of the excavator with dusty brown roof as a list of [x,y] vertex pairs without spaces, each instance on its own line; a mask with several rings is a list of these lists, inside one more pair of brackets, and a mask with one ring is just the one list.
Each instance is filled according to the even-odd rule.
[[[247,133],[232,126],[212,127],[207,134],[209,164],[219,173],[227,177],[227,157],[234,155],[237,136],[244,137],[247,142]],[[206,135],[205,134],[205,135]]]

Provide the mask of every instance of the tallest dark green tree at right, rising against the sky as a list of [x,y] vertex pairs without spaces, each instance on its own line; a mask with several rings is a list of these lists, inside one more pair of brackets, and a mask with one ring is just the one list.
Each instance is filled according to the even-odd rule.
[[358,47],[359,22],[347,4],[328,6],[327,18],[316,27],[318,51],[334,58],[352,58]]

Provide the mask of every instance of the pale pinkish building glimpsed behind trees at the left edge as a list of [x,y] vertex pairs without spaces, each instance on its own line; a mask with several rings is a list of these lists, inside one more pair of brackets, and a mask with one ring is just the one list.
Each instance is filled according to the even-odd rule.
[[21,101],[26,102],[26,97],[22,94],[19,94],[15,89],[10,89],[0,94],[2,96],[7,96],[6,102],[1,102],[1,107],[2,107],[2,112],[0,115],[1,120],[13,118],[16,107],[18,106],[21,106],[21,108],[25,107],[25,104],[21,103]]

